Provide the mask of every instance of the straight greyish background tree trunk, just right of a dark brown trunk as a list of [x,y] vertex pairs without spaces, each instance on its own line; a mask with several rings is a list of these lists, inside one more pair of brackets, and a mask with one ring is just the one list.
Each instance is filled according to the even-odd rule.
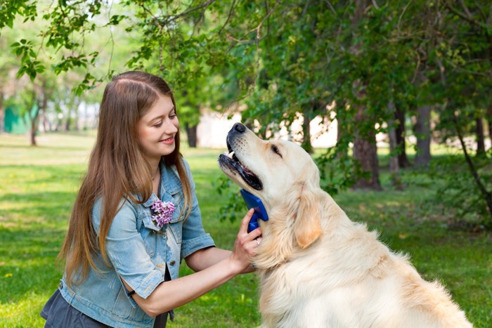
[[417,155],[415,155],[415,166],[429,166],[430,153],[430,112],[428,105],[417,108],[417,122],[413,126],[413,132],[417,137]]

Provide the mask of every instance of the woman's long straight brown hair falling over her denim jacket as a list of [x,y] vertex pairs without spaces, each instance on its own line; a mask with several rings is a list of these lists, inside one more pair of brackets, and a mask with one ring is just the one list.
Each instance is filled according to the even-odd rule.
[[[67,284],[85,280],[89,265],[97,270],[95,259],[98,252],[108,264],[105,239],[122,199],[126,197],[141,204],[152,195],[150,165],[138,144],[136,126],[158,95],[169,96],[176,108],[168,84],[160,77],[145,72],[119,74],[105,88],[98,136],[72,209],[67,236],[58,254],[58,260],[65,261]],[[164,163],[176,166],[183,185],[183,209],[188,209],[183,210],[181,215],[187,216],[191,208],[191,187],[179,152],[179,131],[175,143],[174,151],[164,156]],[[136,195],[140,197],[137,199]],[[96,234],[91,212],[98,197],[102,197],[103,204],[99,234]]]

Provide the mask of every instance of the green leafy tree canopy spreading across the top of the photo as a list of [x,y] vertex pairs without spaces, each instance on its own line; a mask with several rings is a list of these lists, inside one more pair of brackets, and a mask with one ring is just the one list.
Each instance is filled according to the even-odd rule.
[[[492,9],[485,0],[39,4],[12,1],[0,8],[4,28],[14,26],[15,16],[43,21],[40,39],[13,43],[18,74],[42,74],[48,65],[39,55],[51,49],[54,72],[86,70],[75,88],[82,93],[114,73],[93,72],[103,51],[89,46],[90,36],[124,30],[134,44],[127,67],[168,79],[187,126],[197,124],[200,108],[233,103],[247,105],[243,121],[264,137],[289,129],[299,117],[337,119],[339,142],[326,157],[343,159],[346,178],[339,185],[330,181],[329,188],[347,188],[367,176],[347,149],[387,131],[394,119],[389,104],[417,120],[416,107],[432,105],[439,123],[433,132],[446,140],[458,134],[449,119],[455,111],[466,114],[461,128],[470,136],[473,119],[484,118],[492,103]],[[311,150],[306,127],[292,138]]]

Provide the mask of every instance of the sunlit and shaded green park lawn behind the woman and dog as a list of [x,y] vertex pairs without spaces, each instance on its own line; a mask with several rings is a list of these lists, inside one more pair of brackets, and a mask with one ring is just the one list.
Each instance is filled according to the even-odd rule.
[[[0,135],[0,327],[42,327],[39,311],[56,290],[55,258],[93,145],[93,133],[27,137]],[[190,162],[203,224],[219,247],[231,249],[239,220],[219,221],[226,197],[215,191],[222,176],[221,150],[184,149]],[[384,166],[384,157],[382,160]],[[419,177],[417,177],[419,178]],[[475,327],[492,327],[492,235],[450,230],[453,212],[429,202],[435,185],[404,174],[406,190],[346,191],[335,200],[354,221],[378,230],[395,251],[409,254],[427,280],[439,280]],[[181,275],[190,270],[182,265]],[[259,324],[257,281],[240,275],[200,299],[176,309],[169,327],[254,327]]]

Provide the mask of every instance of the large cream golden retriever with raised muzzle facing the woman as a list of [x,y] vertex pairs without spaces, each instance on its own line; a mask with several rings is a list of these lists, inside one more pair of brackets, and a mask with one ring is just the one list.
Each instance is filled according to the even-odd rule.
[[438,282],[351,221],[320,188],[311,156],[240,123],[219,166],[259,197],[268,221],[253,262],[261,327],[472,327]]

